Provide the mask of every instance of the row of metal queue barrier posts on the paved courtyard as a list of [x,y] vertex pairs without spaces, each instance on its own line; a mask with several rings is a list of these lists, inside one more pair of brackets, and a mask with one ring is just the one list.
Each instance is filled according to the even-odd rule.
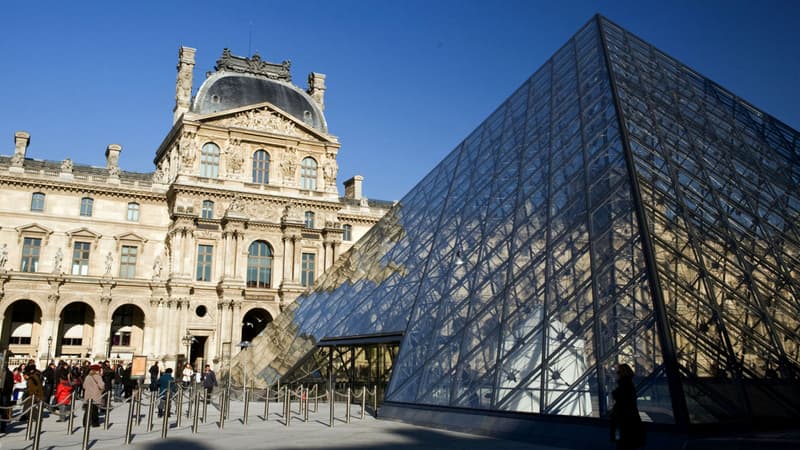
[[[324,386],[324,385],[323,385]],[[143,431],[137,435],[146,435],[155,431],[154,428],[154,415],[158,413],[161,429],[160,434],[162,439],[168,438],[171,429],[186,428],[183,423],[185,417],[189,422],[188,428],[192,433],[200,433],[204,428],[208,429],[212,423],[209,421],[209,406],[217,410],[216,425],[219,429],[224,429],[226,422],[231,419],[231,400],[237,399],[243,403],[241,420],[237,421],[243,427],[249,426],[249,421],[252,418],[250,413],[250,404],[252,402],[264,402],[263,415],[256,418],[261,419],[261,423],[268,422],[271,416],[278,416],[279,422],[284,426],[289,427],[293,420],[300,420],[304,423],[310,423],[313,413],[317,416],[316,421],[325,423],[324,419],[320,420],[320,401],[328,402],[328,420],[327,426],[333,427],[336,421],[350,423],[352,418],[365,418],[367,404],[371,403],[373,412],[377,411],[377,387],[373,386],[372,389],[362,387],[356,389],[355,392],[350,388],[344,391],[337,390],[322,390],[319,384],[311,385],[296,385],[296,386],[270,386],[266,389],[256,389],[254,386],[229,386],[219,389],[218,392],[211,395],[208,390],[204,389],[199,384],[190,384],[186,387],[181,386],[179,383],[169,383],[166,389],[159,389],[151,391],[146,389],[144,385],[139,384],[131,393],[131,395],[121,401],[113,401],[113,388],[102,396],[100,402],[95,404],[89,399],[80,399],[79,393],[74,391],[62,403],[54,405],[47,404],[40,399],[33,397],[25,398],[23,401],[16,405],[0,407],[0,421],[6,422],[6,425],[21,425],[25,422],[24,429],[24,443],[22,446],[38,450],[40,440],[42,437],[45,439],[63,439],[56,438],[58,433],[52,433],[51,428],[48,428],[47,433],[43,433],[43,421],[47,417],[57,416],[59,422],[66,422],[66,436],[72,436],[77,430],[83,427],[83,436],[81,441],[81,448],[87,449],[91,434],[103,433],[103,439],[113,439],[112,436],[107,436],[108,430],[114,421],[125,421],[125,434],[121,439],[125,445],[131,444],[134,436],[134,429],[139,427]],[[337,403],[338,402],[338,403]],[[82,420],[75,421],[76,414],[81,408],[76,408],[78,403],[85,410]],[[270,406],[281,404],[283,410],[280,413],[270,414]],[[341,407],[344,403],[344,417],[337,417],[337,407]],[[352,409],[360,407],[360,411],[355,414]],[[92,409],[96,408],[98,413],[102,413],[102,428],[99,431],[92,430]],[[146,416],[142,414],[142,408],[147,409]],[[124,411],[124,419],[122,415],[113,414],[115,411]],[[341,410],[338,410],[341,411]],[[172,414],[174,412],[174,415]],[[46,416],[45,416],[46,414]],[[146,417],[145,423],[142,423],[143,417]],[[24,420],[25,419],[25,420]],[[189,420],[191,419],[191,420]],[[174,425],[174,426],[173,426]],[[77,426],[77,428],[76,428]],[[21,430],[20,430],[21,431]],[[13,440],[19,439],[19,436],[14,432],[7,434],[4,442],[9,442],[11,447]],[[33,441],[32,445],[28,441]],[[45,446],[63,445],[61,441],[48,442]],[[77,446],[77,444],[75,444]]]

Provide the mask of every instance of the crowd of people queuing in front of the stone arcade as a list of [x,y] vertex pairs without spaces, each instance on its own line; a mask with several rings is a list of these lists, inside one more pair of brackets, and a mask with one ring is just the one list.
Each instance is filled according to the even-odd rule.
[[[83,361],[70,363],[67,361],[50,361],[44,370],[36,367],[36,361],[31,359],[20,364],[13,370],[6,365],[3,368],[3,383],[0,385],[0,433],[5,433],[8,419],[11,418],[10,406],[16,404],[38,405],[43,402],[52,411],[58,411],[58,421],[67,420],[73,392],[84,401],[92,400],[92,407],[85,408],[92,426],[100,425],[100,405],[105,403],[107,396],[114,401],[125,401],[138,389],[143,379],[131,376],[132,364],[112,363],[102,361],[91,363]],[[150,389],[158,392],[162,397],[159,410],[163,413],[163,397],[169,389],[175,392],[177,386],[172,378],[172,369],[163,372],[158,367],[158,362],[150,367]],[[195,374],[189,364],[183,368],[182,384],[188,387],[192,382],[202,384],[210,394],[217,385],[216,375],[209,365],[205,370]],[[171,383],[171,384],[170,384]],[[159,414],[159,416],[161,413]],[[20,415],[20,421],[28,420],[28,414]]]

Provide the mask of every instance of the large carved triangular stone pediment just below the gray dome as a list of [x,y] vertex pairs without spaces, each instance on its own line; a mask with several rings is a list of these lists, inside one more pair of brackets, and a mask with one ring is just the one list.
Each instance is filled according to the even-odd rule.
[[335,142],[330,136],[320,133],[269,102],[208,114],[200,117],[198,121],[225,128],[244,128],[291,136],[307,141]]

